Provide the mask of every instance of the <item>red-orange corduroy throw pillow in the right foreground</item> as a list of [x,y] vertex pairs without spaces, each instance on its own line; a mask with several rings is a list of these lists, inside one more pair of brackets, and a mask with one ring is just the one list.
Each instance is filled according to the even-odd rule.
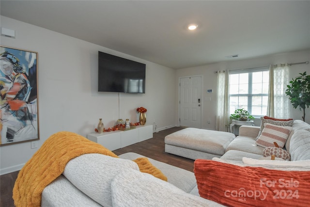
[[309,171],[240,167],[196,159],[194,173],[200,196],[225,206],[309,206]]

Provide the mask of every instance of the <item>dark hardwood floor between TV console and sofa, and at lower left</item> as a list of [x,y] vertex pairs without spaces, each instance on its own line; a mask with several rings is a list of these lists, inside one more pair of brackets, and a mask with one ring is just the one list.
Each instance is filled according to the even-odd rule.
[[[165,136],[181,129],[183,128],[172,127],[153,133],[152,139],[135,143],[114,150],[113,152],[116,155],[121,155],[126,152],[135,152],[145,157],[156,159],[192,172],[194,169],[194,160],[165,153]],[[18,171],[0,176],[0,207],[15,207],[12,199],[12,191],[17,174]]]

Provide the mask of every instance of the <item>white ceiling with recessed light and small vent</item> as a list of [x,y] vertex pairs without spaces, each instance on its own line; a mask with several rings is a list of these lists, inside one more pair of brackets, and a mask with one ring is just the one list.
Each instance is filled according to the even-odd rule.
[[[176,69],[310,49],[309,0],[1,0],[0,7],[2,16]],[[198,30],[186,30],[190,23]]]

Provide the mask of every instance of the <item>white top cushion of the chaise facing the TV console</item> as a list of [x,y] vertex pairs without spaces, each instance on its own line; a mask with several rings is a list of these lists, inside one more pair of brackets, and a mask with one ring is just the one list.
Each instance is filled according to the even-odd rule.
[[226,147],[234,138],[235,135],[230,132],[189,127],[167,135],[165,143],[210,154],[223,155]]

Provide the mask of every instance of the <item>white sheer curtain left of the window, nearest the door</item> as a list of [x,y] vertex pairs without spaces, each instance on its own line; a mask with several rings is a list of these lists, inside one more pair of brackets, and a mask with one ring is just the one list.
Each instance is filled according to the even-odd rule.
[[229,131],[229,108],[229,73],[217,71],[217,131]]

